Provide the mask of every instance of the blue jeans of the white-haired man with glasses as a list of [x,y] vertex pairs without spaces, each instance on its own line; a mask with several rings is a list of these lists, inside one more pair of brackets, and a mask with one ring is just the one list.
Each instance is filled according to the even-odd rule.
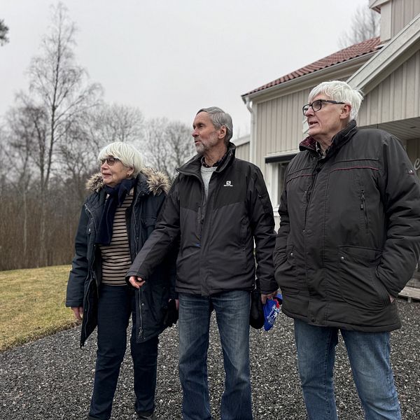
[[338,331],[344,339],[366,420],[400,420],[389,360],[389,332],[317,327],[295,319],[297,363],[309,420],[336,420],[333,370]]

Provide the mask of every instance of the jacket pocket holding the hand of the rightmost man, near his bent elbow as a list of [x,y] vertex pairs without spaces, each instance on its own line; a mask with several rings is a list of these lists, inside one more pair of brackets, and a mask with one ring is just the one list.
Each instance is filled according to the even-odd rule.
[[339,246],[339,286],[342,298],[363,309],[390,303],[389,293],[376,275],[381,250],[362,246]]

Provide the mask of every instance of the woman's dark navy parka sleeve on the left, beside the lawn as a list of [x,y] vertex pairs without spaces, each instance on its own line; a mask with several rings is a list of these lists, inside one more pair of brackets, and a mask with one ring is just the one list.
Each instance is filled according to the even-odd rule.
[[88,274],[87,267],[87,214],[84,206],[75,239],[75,253],[71,262],[71,271],[67,283],[66,307],[83,306],[83,291]]

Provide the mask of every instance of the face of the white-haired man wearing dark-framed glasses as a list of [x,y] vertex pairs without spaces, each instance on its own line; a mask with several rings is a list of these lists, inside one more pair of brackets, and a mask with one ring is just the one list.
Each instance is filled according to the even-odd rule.
[[[325,94],[318,94],[312,99],[312,103],[318,99],[330,100],[331,98]],[[346,111],[343,113],[345,107]],[[313,137],[316,141],[330,141],[337,132],[346,127],[349,112],[349,105],[346,104],[323,102],[321,109],[316,112],[309,106],[309,109],[305,113],[309,125],[309,136]]]

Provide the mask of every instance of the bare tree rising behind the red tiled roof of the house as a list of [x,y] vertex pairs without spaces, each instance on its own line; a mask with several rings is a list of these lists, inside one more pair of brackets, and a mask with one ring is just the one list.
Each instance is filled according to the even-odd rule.
[[349,45],[366,41],[379,36],[381,15],[369,6],[359,6],[351,20],[350,29],[339,36],[339,46],[346,48]]

